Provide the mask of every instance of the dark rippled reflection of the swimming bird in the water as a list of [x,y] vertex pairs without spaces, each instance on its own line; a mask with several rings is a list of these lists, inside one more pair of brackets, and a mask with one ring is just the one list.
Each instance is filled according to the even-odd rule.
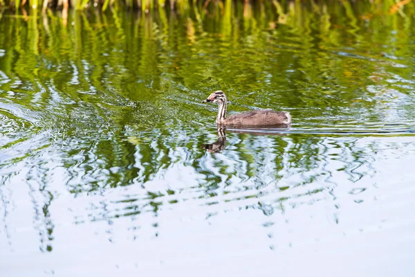
[[287,129],[290,125],[276,125],[273,127],[259,128],[259,127],[225,127],[218,126],[218,140],[214,143],[203,144],[202,149],[208,152],[217,153],[225,149],[226,146],[226,131],[236,134],[251,134],[254,136],[285,136],[281,131]]

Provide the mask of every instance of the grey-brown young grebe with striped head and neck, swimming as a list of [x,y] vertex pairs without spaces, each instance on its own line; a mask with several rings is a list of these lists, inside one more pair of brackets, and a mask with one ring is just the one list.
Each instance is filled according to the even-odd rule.
[[227,99],[223,91],[214,91],[206,100],[203,100],[202,102],[213,102],[219,104],[216,125],[270,126],[291,124],[291,114],[288,111],[274,111],[272,109],[247,111],[240,114],[232,114],[232,116],[226,117]]

